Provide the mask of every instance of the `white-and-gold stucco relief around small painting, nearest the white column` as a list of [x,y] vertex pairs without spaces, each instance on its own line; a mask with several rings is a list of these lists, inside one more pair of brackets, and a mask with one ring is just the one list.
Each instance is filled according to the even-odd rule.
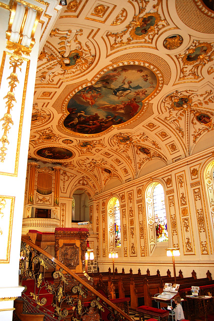
[[[44,83],[54,83],[55,77],[72,76],[80,74],[87,70],[94,62],[94,49],[91,49],[89,42],[78,40],[83,36],[83,30],[52,30],[51,38],[59,38],[60,42],[56,44],[58,52],[52,48],[51,42],[46,44],[43,52],[39,56],[38,77],[36,81]],[[43,71],[44,66],[46,71]]]

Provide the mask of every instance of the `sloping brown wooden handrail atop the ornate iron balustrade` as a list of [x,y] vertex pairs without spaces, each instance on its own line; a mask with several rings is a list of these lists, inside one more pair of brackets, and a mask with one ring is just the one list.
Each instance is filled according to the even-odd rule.
[[118,313],[120,313],[122,316],[124,316],[128,321],[133,321],[133,318],[130,317],[128,314],[126,314],[123,310],[121,310],[118,306],[116,306],[114,303],[112,303],[110,300],[108,300],[106,297],[104,297],[101,293],[96,291],[90,284],[86,283],[81,277],[79,277],[76,273],[71,271],[69,268],[67,268],[63,263],[61,263],[57,258],[40,248],[38,245],[30,241],[29,239],[25,238],[25,236],[22,236],[22,241],[28,244],[29,246],[33,247],[35,250],[39,251],[46,257],[48,257],[51,261],[53,261],[57,266],[62,268],[66,273],[71,275],[74,279],[76,279],[79,283],[84,285],[90,292],[92,292],[94,295],[98,296],[102,301],[104,301],[106,304],[110,305],[114,310],[116,310]]

